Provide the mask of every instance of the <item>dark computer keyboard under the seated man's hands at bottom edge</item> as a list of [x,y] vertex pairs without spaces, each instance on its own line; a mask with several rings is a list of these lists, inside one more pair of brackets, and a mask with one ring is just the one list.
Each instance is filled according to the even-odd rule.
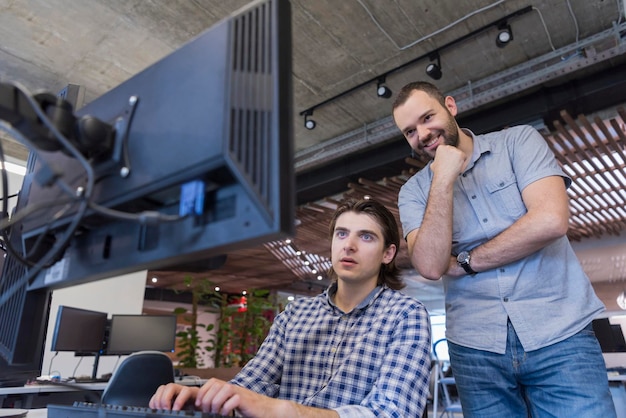
[[48,418],[229,418],[200,411],[168,411],[141,406],[121,406],[74,402],[73,405],[48,405]]

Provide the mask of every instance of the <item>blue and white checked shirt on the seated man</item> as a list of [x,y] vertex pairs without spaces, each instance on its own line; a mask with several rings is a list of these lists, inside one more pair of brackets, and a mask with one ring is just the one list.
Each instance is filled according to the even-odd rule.
[[288,304],[232,383],[341,417],[420,417],[430,375],[426,309],[377,287],[344,313],[329,297],[336,290]]

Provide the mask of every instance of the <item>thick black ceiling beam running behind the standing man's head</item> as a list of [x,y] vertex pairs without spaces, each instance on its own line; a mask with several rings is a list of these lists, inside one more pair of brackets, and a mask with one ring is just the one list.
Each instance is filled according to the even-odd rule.
[[[622,104],[624,91],[626,62],[561,84],[539,86],[506,103],[498,101],[477,110],[465,111],[457,120],[460,126],[476,134],[538,121],[550,127],[554,120],[560,118],[562,110],[572,115],[590,114]],[[362,147],[327,164],[318,163],[314,168],[297,171],[298,204],[341,193],[347,190],[348,183],[361,177],[378,181],[408,169],[404,160],[410,156],[411,150],[397,128],[394,126],[393,129],[392,139],[378,146],[365,151]]]

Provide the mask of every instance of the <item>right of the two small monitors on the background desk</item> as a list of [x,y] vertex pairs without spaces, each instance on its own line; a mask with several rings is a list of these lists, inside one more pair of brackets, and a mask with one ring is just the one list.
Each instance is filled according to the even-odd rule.
[[113,315],[106,354],[169,351],[176,348],[176,315]]

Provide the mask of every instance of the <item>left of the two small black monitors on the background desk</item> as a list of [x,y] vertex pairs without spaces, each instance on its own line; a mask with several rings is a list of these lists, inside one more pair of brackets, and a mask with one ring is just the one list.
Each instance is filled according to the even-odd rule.
[[105,312],[60,305],[50,349],[82,354],[98,353],[104,348],[106,327]]

